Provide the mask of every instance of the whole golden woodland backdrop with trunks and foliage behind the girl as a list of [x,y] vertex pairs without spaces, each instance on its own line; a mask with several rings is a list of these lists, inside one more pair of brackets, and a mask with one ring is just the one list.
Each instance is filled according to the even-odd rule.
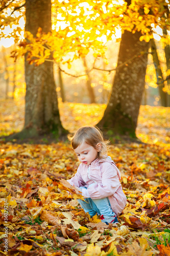
[[168,1],[5,0],[0,11],[2,120],[10,106],[22,116],[1,136],[57,138],[96,124],[109,138],[136,138],[140,105],[168,120]]

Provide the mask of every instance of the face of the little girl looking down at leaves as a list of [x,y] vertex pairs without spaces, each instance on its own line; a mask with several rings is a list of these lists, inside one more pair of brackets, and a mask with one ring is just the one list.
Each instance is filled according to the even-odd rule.
[[102,148],[101,143],[96,144],[96,147],[97,149],[83,142],[77,148],[75,148],[75,153],[83,164],[89,165],[98,157],[98,152],[100,152]]

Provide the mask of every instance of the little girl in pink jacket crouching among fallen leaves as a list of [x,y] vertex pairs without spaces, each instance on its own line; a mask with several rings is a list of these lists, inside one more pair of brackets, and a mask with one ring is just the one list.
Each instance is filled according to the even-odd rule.
[[101,215],[101,221],[118,223],[117,216],[126,205],[126,196],[119,182],[120,172],[111,157],[107,157],[107,144],[103,135],[93,126],[83,126],[68,137],[80,165],[70,185],[81,191],[85,201],[78,200],[92,218]]

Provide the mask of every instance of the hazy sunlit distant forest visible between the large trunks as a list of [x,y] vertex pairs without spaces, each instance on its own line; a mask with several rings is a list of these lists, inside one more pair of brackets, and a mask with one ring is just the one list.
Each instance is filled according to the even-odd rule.
[[[159,38],[159,35],[157,37]],[[14,59],[11,57],[11,52],[16,48],[16,45],[12,44],[12,41],[13,40],[6,38],[6,40],[2,40],[2,42],[0,42],[0,57],[2,59],[0,64],[1,100],[20,100],[23,99],[26,94],[24,57],[20,57],[17,59],[17,61],[14,61]],[[166,77],[166,59],[164,49],[160,41],[156,40],[156,45],[163,77]],[[115,42],[115,40],[109,41],[107,43],[105,58],[99,58],[95,62],[96,66],[104,70],[114,69],[117,66],[118,50],[119,42]],[[59,101],[107,104],[115,71],[109,73],[107,71],[92,70],[86,76],[74,77],[90,70],[93,62],[93,52],[89,52],[84,59],[74,60],[70,69],[68,69],[67,63],[65,65],[61,64],[61,69],[69,74],[72,74],[73,76],[61,72],[58,69],[58,65],[54,65],[54,77]],[[91,90],[93,90],[94,98],[90,97],[91,93],[89,93],[88,84],[90,84]],[[145,89],[141,104],[151,106],[162,105],[152,54],[148,55]]]

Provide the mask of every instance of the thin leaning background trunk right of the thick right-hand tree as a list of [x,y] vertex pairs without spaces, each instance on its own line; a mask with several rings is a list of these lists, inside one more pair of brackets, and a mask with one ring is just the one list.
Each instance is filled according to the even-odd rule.
[[158,90],[159,90],[161,105],[162,106],[167,106],[167,93],[165,93],[163,91],[163,89],[164,89],[164,79],[163,79],[163,74],[162,74],[160,61],[159,61],[159,58],[158,58],[158,54],[157,54],[154,39],[151,40],[151,50],[152,50],[152,56],[153,56],[155,71],[156,71],[156,79],[157,79],[157,84],[158,84]]

